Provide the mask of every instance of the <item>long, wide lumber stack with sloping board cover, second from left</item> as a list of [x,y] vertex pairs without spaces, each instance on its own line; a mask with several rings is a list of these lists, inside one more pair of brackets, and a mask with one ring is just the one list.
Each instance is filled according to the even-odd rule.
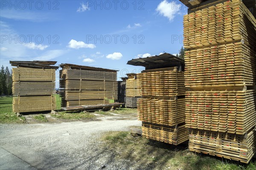
[[61,64],[62,107],[97,105],[117,99],[116,70]]

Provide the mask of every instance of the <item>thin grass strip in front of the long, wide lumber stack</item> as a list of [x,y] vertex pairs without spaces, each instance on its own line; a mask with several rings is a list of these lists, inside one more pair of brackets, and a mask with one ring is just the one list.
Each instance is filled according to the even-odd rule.
[[58,112],[57,114],[52,114],[52,117],[56,117],[58,119],[67,119],[67,120],[80,120],[80,119],[93,119],[96,117],[95,115],[91,113],[84,113],[84,112],[79,112],[79,113],[73,113],[73,112]]

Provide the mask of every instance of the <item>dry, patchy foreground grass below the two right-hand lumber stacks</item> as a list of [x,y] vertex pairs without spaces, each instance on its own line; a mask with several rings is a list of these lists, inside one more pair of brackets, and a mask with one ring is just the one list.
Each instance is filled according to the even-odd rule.
[[[255,170],[256,161],[239,164],[237,161],[218,159],[205,154],[196,154],[187,149],[187,144],[174,146],[156,142],[129,132],[108,132],[102,136],[102,150],[114,153],[113,159],[136,161],[141,169],[168,170]],[[122,161],[122,160],[120,160]]]

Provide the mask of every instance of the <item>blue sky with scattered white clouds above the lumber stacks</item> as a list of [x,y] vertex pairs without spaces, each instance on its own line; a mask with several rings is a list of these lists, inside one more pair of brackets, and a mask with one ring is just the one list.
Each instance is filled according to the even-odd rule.
[[54,60],[119,69],[118,77],[143,69],[127,65],[130,59],[177,54],[187,12],[171,0],[0,3],[1,65]]

